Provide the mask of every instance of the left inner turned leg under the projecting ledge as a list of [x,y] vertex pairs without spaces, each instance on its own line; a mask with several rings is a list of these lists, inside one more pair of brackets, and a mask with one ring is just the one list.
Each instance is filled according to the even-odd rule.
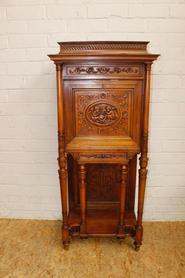
[[85,165],[79,165],[80,177],[80,209],[81,209],[81,225],[80,237],[87,238],[86,232],[86,170]]

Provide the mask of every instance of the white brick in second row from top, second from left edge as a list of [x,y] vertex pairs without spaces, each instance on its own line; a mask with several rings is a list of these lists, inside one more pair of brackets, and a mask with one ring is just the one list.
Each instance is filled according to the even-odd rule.
[[66,31],[66,22],[62,20],[35,20],[28,22],[29,33],[57,33]]

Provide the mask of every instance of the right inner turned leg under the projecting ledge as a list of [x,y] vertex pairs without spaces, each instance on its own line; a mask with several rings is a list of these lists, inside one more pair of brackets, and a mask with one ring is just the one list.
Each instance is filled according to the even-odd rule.
[[121,185],[120,185],[120,212],[119,226],[117,237],[123,239],[125,237],[125,202],[126,202],[126,186],[127,186],[128,166],[123,165],[121,169]]

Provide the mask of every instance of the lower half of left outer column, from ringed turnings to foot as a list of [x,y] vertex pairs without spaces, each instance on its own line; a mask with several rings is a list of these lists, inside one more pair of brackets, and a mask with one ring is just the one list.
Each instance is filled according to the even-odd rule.
[[67,193],[67,157],[64,152],[62,144],[62,136],[59,135],[59,179],[60,179],[60,191],[62,200],[62,241],[64,249],[69,247],[69,227],[68,227],[68,193]]

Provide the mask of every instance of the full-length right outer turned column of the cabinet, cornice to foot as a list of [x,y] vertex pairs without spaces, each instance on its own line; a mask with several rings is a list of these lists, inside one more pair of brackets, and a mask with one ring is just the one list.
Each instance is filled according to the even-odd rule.
[[141,156],[139,159],[139,192],[138,192],[138,212],[137,212],[137,225],[135,237],[135,249],[139,250],[143,238],[143,207],[144,196],[147,178],[147,165],[148,165],[148,123],[149,123],[149,103],[150,103],[150,75],[151,63],[146,63],[146,83],[145,83],[145,98],[144,98],[144,118],[142,127],[142,140],[141,140]]

